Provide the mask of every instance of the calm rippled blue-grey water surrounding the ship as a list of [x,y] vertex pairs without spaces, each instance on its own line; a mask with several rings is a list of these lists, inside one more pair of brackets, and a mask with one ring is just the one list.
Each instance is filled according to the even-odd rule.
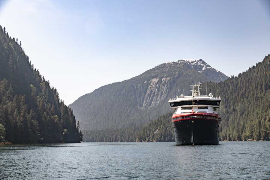
[[270,179],[270,142],[0,145],[0,179]]

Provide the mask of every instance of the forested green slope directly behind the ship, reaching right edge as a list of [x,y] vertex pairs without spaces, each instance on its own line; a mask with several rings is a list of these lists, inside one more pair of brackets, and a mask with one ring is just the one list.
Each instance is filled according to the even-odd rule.
[[[219,110],[221,140],[269,140],[270,54],[237,77],[203,85],[222,99]],[[136,138],[140,141],[171,140],[174,136],[171,129],[171,114],[167,113],[144,125]]]

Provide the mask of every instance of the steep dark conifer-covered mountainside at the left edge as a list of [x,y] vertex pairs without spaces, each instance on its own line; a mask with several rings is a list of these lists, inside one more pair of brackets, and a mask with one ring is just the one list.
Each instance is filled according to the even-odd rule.
[[29,61],[21,42],[0,26],[0,140],[79,143],[72,109]]

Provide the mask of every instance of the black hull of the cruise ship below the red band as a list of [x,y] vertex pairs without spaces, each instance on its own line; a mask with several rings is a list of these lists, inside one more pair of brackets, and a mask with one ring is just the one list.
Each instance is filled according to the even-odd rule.
[[173,121],[176,145],[219,144],[218,121],[189,119]]

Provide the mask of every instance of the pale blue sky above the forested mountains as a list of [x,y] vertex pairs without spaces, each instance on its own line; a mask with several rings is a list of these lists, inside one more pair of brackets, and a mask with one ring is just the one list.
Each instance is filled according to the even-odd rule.
[[0,24],[67,104],[158,64],[203,59],[227,76],[270,53],[265,1],[0,3]]

